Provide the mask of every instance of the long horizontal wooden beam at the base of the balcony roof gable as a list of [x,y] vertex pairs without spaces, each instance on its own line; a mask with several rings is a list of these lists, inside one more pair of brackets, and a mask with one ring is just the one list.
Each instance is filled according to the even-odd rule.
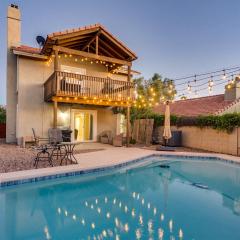
[[130,61],[120,60],[117,58],[112,58],[112,57],[107,57],[107,56],[100,56],[100,55],[96,55],[94,53],[87,53],[84,51],[66,48],[66,47],[62,47],[62,46],[54,45],[53,50],[58,50],[59,52],[64,52],[67,54],[78,55],[78,56],[82,56],[82,57],[92,58],[92,59],[96,59],[96,60],[100,60],[100,61],[102,60],[105,62],[112,62],[112,63],[126,65],[126,66],[132,65],[132,62],[130,62]]

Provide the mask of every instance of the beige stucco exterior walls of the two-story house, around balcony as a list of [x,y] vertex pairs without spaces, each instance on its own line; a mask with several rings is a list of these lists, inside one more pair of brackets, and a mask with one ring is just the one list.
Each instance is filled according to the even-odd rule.
[[[86,74],[106,77],[106,68],[99,64],[75,63],[72,59],[61,59],[62,64],[86,68]],[[47,136],[47,131],[53,126],[53,104],[44,102],[43,84],[53,72],[53,65],[29,58],[18,59],[18,104],[16,105],[16,137],[19,140],[25,136],[32,136],[32,128],[40,136]],[[119,76],[124,80],[126,77]],[[74,109],[97,110],[97,134],[110,130],[117,132],[117,115],[110,108],[83,106],[78,104],[58,104],[58,126],[71,125],[71,112]],[[60,112],[66,112],[67,117],[61,119]],[[71,127],[71,126],[70,126]]]

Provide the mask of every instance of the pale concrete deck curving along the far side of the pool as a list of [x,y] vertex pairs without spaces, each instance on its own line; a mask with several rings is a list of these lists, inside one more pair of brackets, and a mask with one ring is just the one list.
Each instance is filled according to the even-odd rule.
[[0,184],[23,179],[39,178],[50,175],[79,172],[82,170],[111,167],[114,165],[131,162],[136,159],[142,159],[151,155],[216,157],[222,158],[227,161],[240,163],[240,157],[225,154],[201,153],[201,152],[167,152],[167,151],[160,152],[132,147],[131,148],[109,147],[102,151],[76,154],[75,157],[77,159],[78,164],[1,173]]

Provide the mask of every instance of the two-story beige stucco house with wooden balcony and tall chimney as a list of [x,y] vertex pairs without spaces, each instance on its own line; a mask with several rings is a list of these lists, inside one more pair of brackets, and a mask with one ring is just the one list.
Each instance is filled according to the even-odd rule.
[[123,119],[112,107],[126,107],[129,116],[135,53],[100,24],[43,40],[39,48],[22,45],[20,10],[8,7],[6,141],[20,142],[32,128],[39,136],[51,127],[70,128],[73,141],[118,134]]

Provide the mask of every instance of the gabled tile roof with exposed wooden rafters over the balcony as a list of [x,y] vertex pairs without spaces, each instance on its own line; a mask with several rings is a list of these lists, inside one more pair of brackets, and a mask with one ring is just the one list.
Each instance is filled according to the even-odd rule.
[[54,45],[129,62],[137,59],[133,51],[107,31],[101,24],[49,34],[41,50],[41,54],[52,54]]

